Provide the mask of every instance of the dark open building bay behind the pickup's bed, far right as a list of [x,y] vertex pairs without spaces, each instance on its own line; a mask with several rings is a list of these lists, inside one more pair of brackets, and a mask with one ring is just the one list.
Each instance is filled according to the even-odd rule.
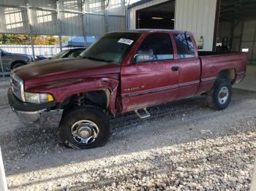
[[218,43],[231,51],[247,52],[249,64],[256,65],[256,1],[222,0]]

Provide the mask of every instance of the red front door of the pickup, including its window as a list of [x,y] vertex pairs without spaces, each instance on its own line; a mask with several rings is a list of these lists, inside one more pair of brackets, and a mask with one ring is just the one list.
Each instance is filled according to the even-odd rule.
[[121,67],[121,110],[129,112],[173,101],[178,95],[179,66],[170,34],[148,34],[131,63]]

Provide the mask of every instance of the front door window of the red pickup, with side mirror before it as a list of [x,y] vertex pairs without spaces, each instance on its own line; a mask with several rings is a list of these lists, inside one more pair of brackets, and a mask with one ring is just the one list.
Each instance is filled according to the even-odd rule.
[[148,34],[140,44],[136,62],[173,59],[173,47],[169,34]]

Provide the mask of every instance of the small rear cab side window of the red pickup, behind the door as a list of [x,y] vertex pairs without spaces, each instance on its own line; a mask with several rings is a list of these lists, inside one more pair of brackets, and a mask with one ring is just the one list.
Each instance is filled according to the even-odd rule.
[[190,36],[187,34],[174,34],[178,58],[195,58],[195,48]]

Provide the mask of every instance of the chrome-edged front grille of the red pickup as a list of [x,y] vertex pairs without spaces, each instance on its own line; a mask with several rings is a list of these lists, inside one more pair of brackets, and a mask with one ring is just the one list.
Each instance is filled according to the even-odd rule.
[[20,99],[20,101],[24,101],[23,96],[23,80],[20,79],[15,73],[11,73],[10,75],[11,85],[12,85],[12,92],[14,95]]

